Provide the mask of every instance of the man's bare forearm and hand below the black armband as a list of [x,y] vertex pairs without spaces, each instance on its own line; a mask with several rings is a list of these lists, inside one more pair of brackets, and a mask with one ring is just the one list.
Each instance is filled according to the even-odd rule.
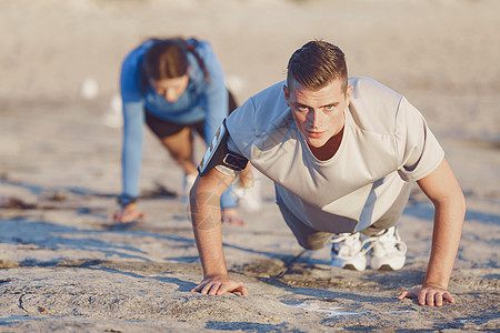
[[198,176],[191,189],[191,221],[204,276],[193,292],[210,295],[240,292],[247,295],[247,287],[229,278],[222,250],[220,195],[233,179],[212,169]]

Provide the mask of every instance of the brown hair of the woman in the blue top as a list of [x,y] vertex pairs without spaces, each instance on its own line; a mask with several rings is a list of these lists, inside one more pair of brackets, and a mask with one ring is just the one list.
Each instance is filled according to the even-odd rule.
[[144,79],[163,80],[179,78],[188,73],[188,52],[191,52],[209,82],[207,69],[200,56],[194,51],[198,41],[188,44],[182,38],[150,39],[152,46],[146,51],[142,60]]

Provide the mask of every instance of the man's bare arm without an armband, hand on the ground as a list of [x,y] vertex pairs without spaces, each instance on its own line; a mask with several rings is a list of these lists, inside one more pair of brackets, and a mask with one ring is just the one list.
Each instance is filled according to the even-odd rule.
[[399,299],[418,299],[421,305],[430,306],[442,305],[443,299],[454,303],[447,289],[460,243],[466,200],[444,159],[438,169],[417,183],[434,205],[432,249],[422,286],[404,291]]

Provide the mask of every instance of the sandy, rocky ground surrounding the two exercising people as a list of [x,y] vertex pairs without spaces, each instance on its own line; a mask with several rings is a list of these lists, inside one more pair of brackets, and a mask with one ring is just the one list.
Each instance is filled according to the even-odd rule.
[[[499,11],[494,0],[0,0],[0,331],[498,332]],[[468,200],[457,303],[396,299],[421,283],[429,255],[433,212],[418,190],[400,224],[403,270],[353,272],[330,268],[329,249],[301,251],[262,180],[263,210],[223,229],[247,297],[190,292],[201,270],[181,172],[149,133],[148,219],[110,223],[120,61],[148,37],[180,34],[212,42],[240,101],[284,79],[293,50],[318,38],[346,51],[351,75],[416,104]],[[86,80],[96,95],[82,95]]]

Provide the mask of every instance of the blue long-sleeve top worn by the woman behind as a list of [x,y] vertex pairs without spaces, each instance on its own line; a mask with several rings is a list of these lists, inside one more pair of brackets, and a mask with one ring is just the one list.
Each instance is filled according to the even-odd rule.
[[[211,141],[222,120],[228,115],[229,97],[219,60],[208,42],[197,40],[187,42],[188,44],[197,43],[194,52],[203,61],[210,82],[204,79],[203,70],[196,57],[188,52],[189,83],[176,102],[168,102],[148,82],[143,83],[142,59],[144,52],[154,43],[153,40],[136,48],[123,60],[120,77],[123,102],[123,196],[139,196],[146,109],[160,119],[180,124],[192,124],[204,120],[206,142]],[[236,206],[230,191],[226,192],[221,198],[222,208]]]

